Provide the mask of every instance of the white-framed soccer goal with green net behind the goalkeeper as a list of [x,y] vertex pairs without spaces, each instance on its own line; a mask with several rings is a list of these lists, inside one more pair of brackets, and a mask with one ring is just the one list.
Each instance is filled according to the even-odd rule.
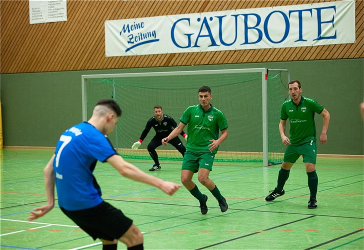
[[[229,132],[215,161],[268,166],[282,161],[278,124],[281,105],[289,97],[288,82],[288,70],[267,68],[82,75],[82,118],[90,118],[100,99],[114,99],[122,116],[109,136],[111,142],[124,158],[150,160],[146,148],[155,135],[153,129],[137,151],[131,145],[153,116],[153,107],[161,105],[178,124],[188,106],[199,104],[198,89],[207,85],[211,104],[225,114]],[[157,152],[160,160],[182,159],[170,145],[158,147]]]

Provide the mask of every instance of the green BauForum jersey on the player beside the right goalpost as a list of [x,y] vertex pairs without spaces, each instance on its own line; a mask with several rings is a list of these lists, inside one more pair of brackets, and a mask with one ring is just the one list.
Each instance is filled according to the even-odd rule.
[[282,104],[281,119],[289,118],[289,140],[293,145],[316,141],[315,113],[321,114],[324,107],[315,100],[301,96],[296,105],[292,99]]

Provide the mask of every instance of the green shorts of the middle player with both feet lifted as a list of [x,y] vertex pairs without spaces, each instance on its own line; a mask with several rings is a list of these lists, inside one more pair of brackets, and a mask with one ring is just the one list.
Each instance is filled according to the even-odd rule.
[[199,168],[206,168],[212,171],[215,154],[211,152],[191,152],[186,151],[183,157],[182,170],[190,170],[197,173]]

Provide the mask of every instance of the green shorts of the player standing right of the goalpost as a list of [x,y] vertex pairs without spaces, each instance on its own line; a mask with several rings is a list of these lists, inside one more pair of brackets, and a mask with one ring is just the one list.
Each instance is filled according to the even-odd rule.
[[284,152],[283,161],[295,163],[302,155],[303,162],[316,164],[317,147],[316,142],[310,141],[301,145],[288,145]]

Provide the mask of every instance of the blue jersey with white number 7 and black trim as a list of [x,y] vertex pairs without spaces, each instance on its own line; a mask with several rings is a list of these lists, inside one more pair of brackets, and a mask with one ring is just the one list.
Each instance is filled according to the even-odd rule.
[[66,210],[82,210],[102,202],[101,189],[92,174],[96,162],[117,154],[107,137],[90,123],[79,123],[61,135],[53,169],[58,204]]

